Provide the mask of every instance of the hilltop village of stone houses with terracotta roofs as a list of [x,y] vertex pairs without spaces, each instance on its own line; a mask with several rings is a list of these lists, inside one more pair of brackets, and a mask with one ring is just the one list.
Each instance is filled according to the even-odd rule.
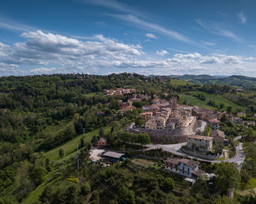
[[[156,145],[157,147],[148,144],[145,151],[158,149],[160,146],[161,149],[171,152],[173,157],[164,160],[165,170],[185,176],[191,183],[194,183],[195,179],[201,175],[214,176],[213,173],[206,173],[205,170],[200,169],[200,161],[228,161],[236,154],[236,150],[229,147],[230,140],[222,130],[219,130],[222,119],[244,127],[255,125],[254,120],[243,120],[243,117],[246,117],[243,112],[238,112],[234,116],[227,111],[220,112],[199,106],[187,106],[179,104],[176,96],[170,96],[170,100],[167,101],[158,98],[157,95],[136,94],[135,89],[105,90],[107,97],[118,98],[120,95],[129,95],[129,98],[127,101],[118,101],[118,114],[124,115],[127,111],[135,111],[137,107],[143,110],[139,114],[139,119],[132,122],[126,131],[135,135],[146,133],[150,136],[151,142],[161,144]],[[167,96],[167,93],[163,95]],[[148,104],[143,105],[145,102]],[[107,105],[110,106],[110,104]],[[97,112],[98,116],[102,114],[105,113]],[[97,149],[91,152],[94,155],[93,161],[101,161],[109,165],[125,160],[125,152],[124,154],[112,152],[108,149],[109,146],[107,138],[99,138]],[[235,152],[231,153],[231,151]],[[241,168],[244,160],[242,157],[234,160],[238,169]]]

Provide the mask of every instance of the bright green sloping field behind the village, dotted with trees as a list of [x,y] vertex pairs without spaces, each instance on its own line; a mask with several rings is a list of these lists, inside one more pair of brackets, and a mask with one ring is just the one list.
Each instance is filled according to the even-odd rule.
[[201,108],[209,108],[209,109],[217,109],[213,106],[209,106],[207,103],[208,101],[214,101],[217,106],[219,106],[220,103],[224,104],[223,109],[227,109],[227,106],[231,106],[232,110],[235,111],[236,109],[242,109],[245,111],[245,107],[239,106],[236,103],[233,103],[232,101],[228,100],[227,98],[222,97],[221,95],[215,95],[215,94],[208,94],[208,93],[203,93],[206,95],[206,101],[202,101],[199,98],[194,97],[193,95],[198,95],[203,92],[189,92],[189,95],[186,94],[180,94],[180,100],[186,100],[189,102],[189,105],[191,106],[200,106]]

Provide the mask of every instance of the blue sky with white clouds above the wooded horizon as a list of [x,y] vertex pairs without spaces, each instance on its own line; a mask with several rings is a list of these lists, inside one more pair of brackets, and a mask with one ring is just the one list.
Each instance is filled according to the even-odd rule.
[[256,76],[254,0],[1,0],[0,76]]

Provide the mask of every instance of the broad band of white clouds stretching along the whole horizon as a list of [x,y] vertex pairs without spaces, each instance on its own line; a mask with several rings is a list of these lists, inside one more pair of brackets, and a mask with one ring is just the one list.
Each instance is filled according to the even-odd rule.
[[[240,74],[255,68],[255,58],[239,55],[202,55],[198,52],[170,56],[157,50],[148,58],[140,44],[124,44],[102,35],[84,41],[42,31],[21,34],[25,42],[0,42],[0,75],[89,73],[121,71],[139,74]],[[157,58],[169,55],[170,58]],[[221,68],[220,68],[221,67]],[[252,76],[252,75],[251,75]]]

